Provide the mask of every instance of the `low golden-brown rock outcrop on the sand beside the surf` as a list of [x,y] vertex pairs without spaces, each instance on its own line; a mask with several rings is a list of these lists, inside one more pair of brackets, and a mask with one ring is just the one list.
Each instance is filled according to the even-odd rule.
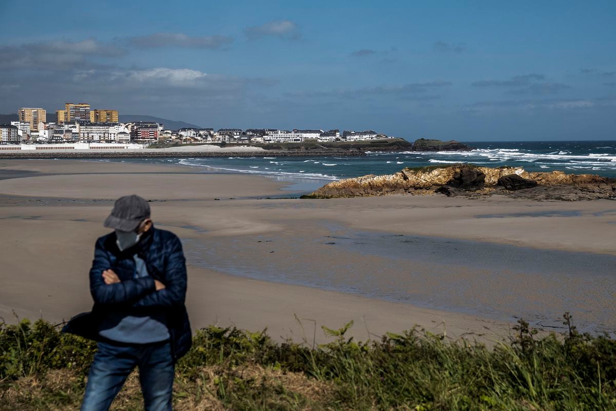
[[616,179],[561,171],[527,172],[521,167],[449,167],[403,169],[394,174],[365,175],[331,182],[304,198],[433,194],[481,196],[506,194],[513,198],[564,201],[614,199]]

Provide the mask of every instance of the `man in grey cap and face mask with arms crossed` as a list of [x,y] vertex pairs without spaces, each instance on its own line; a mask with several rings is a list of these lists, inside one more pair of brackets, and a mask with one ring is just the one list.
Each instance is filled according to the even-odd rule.
[[149,204],[136,195],[115,202],[105,227],[115,231],[96,241],[94,308],[64,329],[99,341],[81,410],[107,410],[135,367],[145,410],[171,410],[174,364],[192,343],[182,244],[154,228]]

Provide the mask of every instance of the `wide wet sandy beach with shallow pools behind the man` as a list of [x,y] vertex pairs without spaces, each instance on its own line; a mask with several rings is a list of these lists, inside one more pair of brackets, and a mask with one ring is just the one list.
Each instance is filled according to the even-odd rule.
[[[564,311],[590,329],[616,328],[612,271],[603,269],[616,255],[610,201],[268,199],[285,183],[200,171],[1,161],[0,316],[59,322],[87,311],[102,221],[116,198],[137,193],[152,201],[155,224],[184,241],[195,328],[267,327],[311,343],[325,340],[321,325],[353,320],[361,340],[414,325],[498,340],[515,316],[558,330]],[[551,256],[570,258],[568,271],[519,262]],[[591,274],[577,261],[589,261]]]

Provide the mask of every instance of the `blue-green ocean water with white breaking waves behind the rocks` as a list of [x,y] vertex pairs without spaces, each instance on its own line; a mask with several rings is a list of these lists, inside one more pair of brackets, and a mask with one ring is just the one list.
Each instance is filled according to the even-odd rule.
[[[150,158],[123,162],[184,164],[214,172],[241,172],[290,180],[339,180],[367,174],[392,174],[404,167],[471,163],[520,166],[529,171],[562,170],[616,177],[616,141],[469,142],[472,151],[370,152],[362,157]],[[325,182],[322,182],[324,184]]]

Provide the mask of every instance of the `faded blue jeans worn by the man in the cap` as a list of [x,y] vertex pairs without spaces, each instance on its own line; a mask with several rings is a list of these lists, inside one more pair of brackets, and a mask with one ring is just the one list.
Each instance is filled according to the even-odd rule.
[[169,341],[102,343],[90,367],[81,411],[107,411],[126,377],[139,367],[146,411],[171,411],[174,362]]

